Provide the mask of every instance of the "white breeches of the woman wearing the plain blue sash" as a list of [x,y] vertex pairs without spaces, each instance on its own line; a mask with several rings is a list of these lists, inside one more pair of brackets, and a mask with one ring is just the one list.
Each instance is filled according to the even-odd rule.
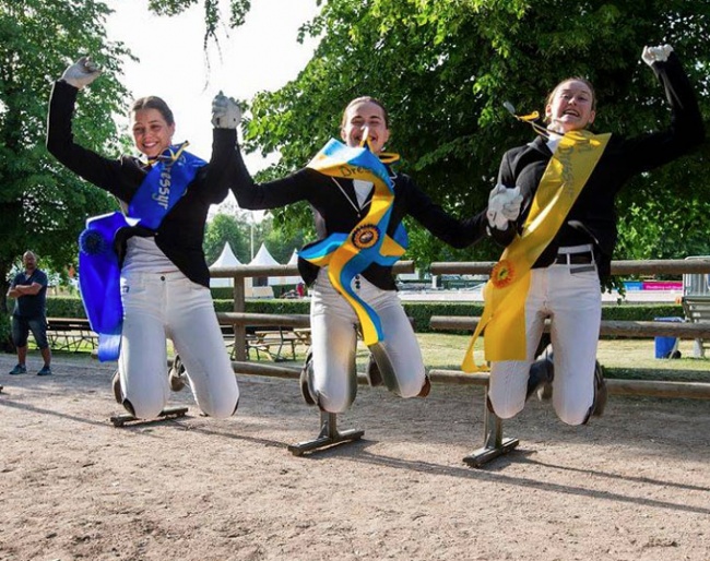
[[139,418],[155,417],[170,389],[166,337],[180,355],[198,406],[229,417],[239,399],[210,289],[182,273],[121,276],[123,332],[118,369],[123,398]]

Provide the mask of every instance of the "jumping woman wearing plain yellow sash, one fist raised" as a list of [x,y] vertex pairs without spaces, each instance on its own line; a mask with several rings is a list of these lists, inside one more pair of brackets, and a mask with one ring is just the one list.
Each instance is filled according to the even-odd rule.
[[[646,47],[642,60],[665,89],[672,111],[667,130],[635,139],[590,133],[594,89],[572,77],[547,98],[547,128],[534,124],[540,135],[502,157],[498,183],[520,189],[523,212],[517,228],[493,232],[507,248],[486,285],[478,329],[490,362],[490,405],[501,418],[521,411],[540,383],[552,384],[555,411],[568,425],[584,423],[603,408],[605,387],[595,369],[600,277],[610,273],[616,243],[615,195],[634,175],[681,157],[705,136],[673,49]],[[535,363],[529,380],[548,318],[554,362]],[[476,368],[470,349],[464,370]]]

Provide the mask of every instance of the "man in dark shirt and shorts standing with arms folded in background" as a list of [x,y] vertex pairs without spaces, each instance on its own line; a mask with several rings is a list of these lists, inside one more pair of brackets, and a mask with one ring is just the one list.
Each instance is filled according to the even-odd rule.
[[17,366],[11,374],[25,374],[27,367],[27,336],[29,331],[35,337],[37,347],[45,359],[45,366],[37,375],[51,374],[51,351],[47,343],[47,275],[37,268],[37,258],[32,251],[22,255],[24,273],[17,273],[10,285],[8,296],[15,299],[15,309],[12,312],[12,342],[17,347]]

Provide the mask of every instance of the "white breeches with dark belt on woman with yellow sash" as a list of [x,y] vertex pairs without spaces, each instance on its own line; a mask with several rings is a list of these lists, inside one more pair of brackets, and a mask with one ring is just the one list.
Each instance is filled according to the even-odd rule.
[[593,264],[554,264],[532,270],[525,301],[526,360],[492,362],[490,404],[502,419],[513,417],[524,407],[530,366],[546,318],[552,321],[555,353],[553,406],[564,422],[580,425],[594,401],[594,365],[602,319],[601,287]]

